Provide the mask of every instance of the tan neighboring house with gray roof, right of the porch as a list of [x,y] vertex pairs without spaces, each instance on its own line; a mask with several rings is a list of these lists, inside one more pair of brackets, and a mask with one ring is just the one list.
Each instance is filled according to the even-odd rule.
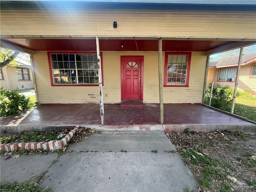
[[[239,56],[209,62],[207,84],[212,81],[221,86],[234,88]],[[256,95],[256,52],[242,55],[238,89]]]

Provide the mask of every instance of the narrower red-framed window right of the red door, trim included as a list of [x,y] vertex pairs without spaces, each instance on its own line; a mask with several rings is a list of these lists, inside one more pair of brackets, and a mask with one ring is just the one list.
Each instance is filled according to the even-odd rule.
[[164,86],[188,86],[191,52],[166,52]]

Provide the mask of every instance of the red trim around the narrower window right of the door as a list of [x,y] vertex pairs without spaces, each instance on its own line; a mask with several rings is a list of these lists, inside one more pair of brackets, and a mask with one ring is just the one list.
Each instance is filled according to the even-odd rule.
[[[188,66],[187,66],[187,74],[186,74],[186,84],[184,84],[184,85],[168,85],[167,84],[168,55],[188,55]],[[188,87],[188,85],[189,85],[189,76],[190,76],[190,64],[191,64],[191,52],[175,52],[175,51],[165,52],[164,87]]]

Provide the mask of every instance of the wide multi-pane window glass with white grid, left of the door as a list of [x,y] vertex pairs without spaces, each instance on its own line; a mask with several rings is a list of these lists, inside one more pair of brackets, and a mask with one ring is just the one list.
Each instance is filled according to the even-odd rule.
[[97,54],[50,54],[53,84],[98,84]]

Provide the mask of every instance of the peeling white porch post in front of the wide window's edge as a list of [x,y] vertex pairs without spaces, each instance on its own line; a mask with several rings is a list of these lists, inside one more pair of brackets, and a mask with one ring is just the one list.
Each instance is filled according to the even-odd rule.
[[103,92],[102,92],[100,43],[99,43],[99,38],[98,37],[96,37],[96,49],[97,49],[97,59],[98,59],[99,88],[100,88],[100,118],[101,118],[101,125],[104,126],[104,102],[103,102]]

